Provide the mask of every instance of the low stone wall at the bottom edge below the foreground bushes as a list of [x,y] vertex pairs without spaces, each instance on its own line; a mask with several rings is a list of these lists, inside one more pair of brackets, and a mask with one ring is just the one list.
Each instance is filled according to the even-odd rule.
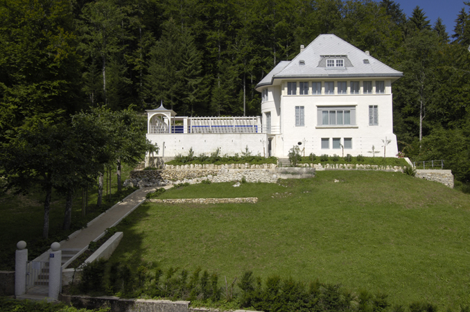
[[[103,296],[69,296],[60,294],[59,300],[82,309],[100,309],[108,306],[113,312],[198,312],[209,311],[204,308],[190,308],[189,301],[170,300],[146,300],[146,299],[121,299],[119,297]],[[210,311],[218,311],[211,309]],[[231,312],[243,312],[245,310],[235,310]],[[256,311],[246,311],[256,312]]]

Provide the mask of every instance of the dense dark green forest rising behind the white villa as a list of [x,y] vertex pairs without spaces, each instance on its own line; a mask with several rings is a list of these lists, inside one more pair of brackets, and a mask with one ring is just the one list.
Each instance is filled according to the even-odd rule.
[[[18,177],[42,172],[46,189],[66,181],[71,196],[73,181],[148,150],[142,142],[132,151],[126,136],[145,131],[137,113],[163,101],[183,116],[259,115],[254,87],[263,76],[300,44],[333,33],[403,72],[393,85],[399,150],[415,161],[444,159],[467,184],[470,3],[463,6],[449,35],[441,19],[431,23],[419,7],[407,17],[393,0],[2,0],[1,171],[19,189],[29,185]],[[44,168],[35,155],[56,157]]]

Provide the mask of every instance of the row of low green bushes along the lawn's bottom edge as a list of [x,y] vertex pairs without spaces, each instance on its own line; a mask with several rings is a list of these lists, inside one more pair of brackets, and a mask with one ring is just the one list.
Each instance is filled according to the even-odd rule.
[[[257,311],[345,311],[345,312],[436,312],[428,302],[406,306],[392,305],[388,295],[348,291],[339,284],[320,281],[305,283],[277,275],[264,282],[252,272],[241,279],[222,283],[217,273],[200,268],[189,272],[178,268],[147,268],[125,263],[90,263],[83,271],[78,289],[82,292],[121,297],[167,298],[189,300],[219,309],[254,309]],[[222,286],[220,285],[222,284]],[[460,312],[470,312],[468,307]]]

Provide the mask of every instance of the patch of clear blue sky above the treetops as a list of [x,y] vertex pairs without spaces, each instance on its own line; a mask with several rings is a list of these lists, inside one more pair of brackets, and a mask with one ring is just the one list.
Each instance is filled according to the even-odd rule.
[[[394,0],[396,3],[400,3],[400,8],[407,17],[410,17],[413,9],[416,6],[423,9],[426,16],[434,24],[437,17],[440,17],[446,25],[446,31],[449,35],[453,34],[453,28],[455,26],[455,19],[463,7],[469,11],[469,6],[464,5],[462,0]],[[467,0],[468,1],[468,0]]]

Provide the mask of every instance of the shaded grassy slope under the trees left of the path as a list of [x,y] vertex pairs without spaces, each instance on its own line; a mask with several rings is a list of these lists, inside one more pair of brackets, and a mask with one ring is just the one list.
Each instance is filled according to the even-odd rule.
[[[123,167],[122,178],[128,178],[132,168]],[[112,175],[112,194],[117,191],[116,171]],[[106,179],[105,179],[106,187]],[[106,191],[103,190],[103,195]],[[49,238],[60,241],[76,229],[86,225],[89,220],[101,214],[96,209],[97,192],[91,187],[88,192],[89,214],[82,218],[82,192],[76,193],[73,198],[72,227],[69,232],[62,231],[64,220],[65,198],[53,192],[51,210],[49,215]],[[44,225],[44,198],[40,189],[30,191],[26,196],[0,193],[0,270],[15,270],[15,249],[18,241],[26,241],[29,260],[44,252],[44,246],[51,242],[42,241],[42,227]],[[110,202],[103,202],[103,207],[111,207],[117,198]]]

